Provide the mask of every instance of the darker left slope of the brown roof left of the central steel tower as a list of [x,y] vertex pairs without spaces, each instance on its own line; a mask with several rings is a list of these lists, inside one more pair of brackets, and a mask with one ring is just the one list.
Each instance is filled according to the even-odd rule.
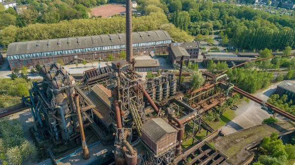
[[93,112],[106,124],[107,127],[110,126],[112,124],[112,119],[108,115],[110,109],[98,98],[98,96],[93,91],[87,93],[87,96],[95,105]]

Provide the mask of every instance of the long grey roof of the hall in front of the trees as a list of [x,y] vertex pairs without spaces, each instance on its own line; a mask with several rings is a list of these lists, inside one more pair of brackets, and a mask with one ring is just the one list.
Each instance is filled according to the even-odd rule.
[[[132,33],[132,43],[147,43],[166,40],[172,40],[172,38],[166,31],[163,30],[142,31]],[[94,47],[117,45],[120,46],[125,44],[125,33],[59,38],[39,41],[13,42],[8,45],[7,55],[22,55],[84,48],[92,49]],[[116,47],[114,49],[120,48]]]

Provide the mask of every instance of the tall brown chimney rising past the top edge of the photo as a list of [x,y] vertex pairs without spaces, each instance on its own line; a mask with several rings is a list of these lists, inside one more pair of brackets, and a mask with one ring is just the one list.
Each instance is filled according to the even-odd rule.
[[132,11],[131,0],[126,0],[126,61],[131,62],[133,59],[132,53]]

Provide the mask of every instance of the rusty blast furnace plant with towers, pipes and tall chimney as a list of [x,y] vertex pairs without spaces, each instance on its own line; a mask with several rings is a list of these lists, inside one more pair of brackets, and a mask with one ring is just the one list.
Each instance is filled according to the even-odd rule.
[[[157,77],[145,81],[141,72],[136,72],[132,43],[139,40],[132,37],[145,37],[132,35],[131,7],[131,0],[126,0],[126,34],[123,41],[126,60],[108,62],[107,66],[87,70],[83,77],[75,79],[59,63],[44,62],[49,57],[31,58],[29,60],[44,62],[39,73],[43,81],[32,83],[29,97],[24,98],[22,104],[0,113],[3,117],[29,107],[35,122],[33,137],[46,149],[53,164],[235,164],[222,151],[210,147],[208,141],[223,134],[206,123],[204,114],[212,109],[216,115],[222,114],[230,108],[236,93],[295,121],[295,116],[227,83],[226,74],[216,76],[202,72],[205,83],[198,89],[181,83],[181,76],[192,73],[183,66],[183,60],[193,55],[187,51],[177,54],[177,49],[181,51],[185,44],[171,45],[176,49],[173,61],[177,72],[162,70]],[[151,37],[148,33],[166,36],[165,31],[147,32],[146,37]],[[166,49],[170,44],[170,36],[164,38],[161,40],[163,44],[167,40],[167,45],[159,46],[158,51],[163,52],[164,47]],[[71,42],[67,41],[67,44]],[[14,46],[15,50],[19,47],[17,44]],[[47,47],[50,47],[50,42]],[[29,46],[27,48],[29,51]],[[189,52],[194,51],[199,50]],[[94,54],[81,55],[100,58],[99,55],[94,57]],[[85,56],[81,58],[85,59]],[[60,57],[66,63],[66,55],[62,53]],[[9,62],[17,66],[19,61],[16,58]],[[211,135],[207,140],[198,141],[194,137],[202,129],[207,135],[213,133],[215,138]],[[184,136],[193,138],[192,143],[197,145],[183,150]],[[188,158],[191,160],[187,161]],[[245,157],[245,161],[249,160]]]

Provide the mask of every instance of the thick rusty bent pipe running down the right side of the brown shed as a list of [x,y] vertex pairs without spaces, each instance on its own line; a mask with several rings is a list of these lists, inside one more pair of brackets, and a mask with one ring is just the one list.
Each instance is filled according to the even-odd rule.
[[181,121],[176,118],[175,115],[172,115],[172,113],[170,112],[170,108],[166,108],[166,113],[168,114],[168,120],[169,121],[173,120],[174,122],[177,123],[177,127],[178,127],[178,133],[177,133],[178,145],[176,146],[175,155],[180,155],[181,154],[181,143],[182,143],[182,138],[183,138],[183,134],[184,134],[184,126],[182,125]]

